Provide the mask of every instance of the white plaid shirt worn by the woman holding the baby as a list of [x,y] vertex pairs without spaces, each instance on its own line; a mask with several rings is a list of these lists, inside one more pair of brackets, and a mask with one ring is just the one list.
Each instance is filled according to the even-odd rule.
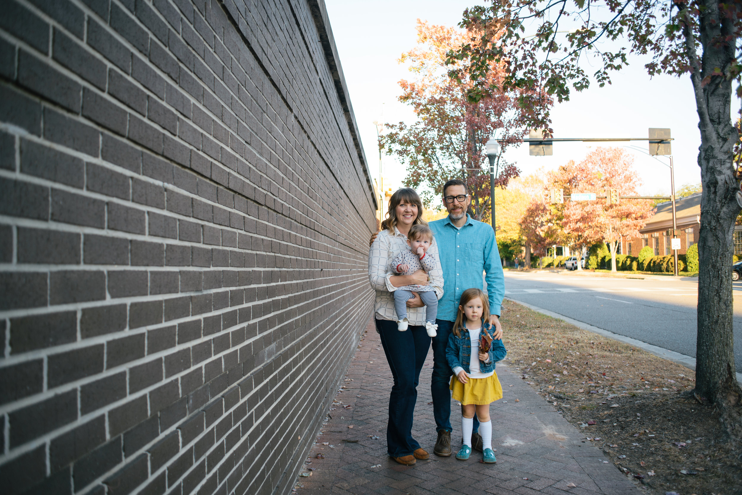
[[[374,303],[375,317],[378,319],[395,319],[394,298],[392,293],[397,290],[391,282],[390,277],[398,275],[390,268],[390,263],[401,250],[410,250],[407,245],[407,236],[394,227],[394,235],[389,230],[381,230],[374,239],[369,251],[369,281],[371,287],[376,290],[376,300]],[[443,270],[438,256],[438,245],[433,239],[428,253],[433,255],[436,265],[433,270],[428,272],[430,285],[436,291],[436,296],[441,299],[443,296]],[[410,325],[425,325],[425,308],[407,308],[407,317],[410,319]]]

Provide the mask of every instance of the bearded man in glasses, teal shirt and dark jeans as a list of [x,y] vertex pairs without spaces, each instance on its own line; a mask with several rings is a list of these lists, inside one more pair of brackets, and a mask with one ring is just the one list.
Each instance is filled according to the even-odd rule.
[[[449,384],[453,371],[446,361],[446,345],[451,334],[459,299],[469,288],[484,289],[482,272],[487,282],[487,299],[490,302],[490,325],[495,327],[495,338],[502,339],[499,322],[500,305],[505,295],[505,277],[502,274],[495,233],[490,225],[478,222],[467,215],[471,196],[464,181],[451,179],[443,186],[443,205],[448,210],[445,219],[430,222],[436,236],[438,253],[443,268],[443,297],[438,303],[438,335],[433,337],[433,377],[430,389],[433,394],[433,416],[436,418],[438,439],[433,453],[451,455],[451,396]],[[410,299],[410,307],[422,306],[422,301]],[[482,451],[479,421],[474,416],[473,448]]]

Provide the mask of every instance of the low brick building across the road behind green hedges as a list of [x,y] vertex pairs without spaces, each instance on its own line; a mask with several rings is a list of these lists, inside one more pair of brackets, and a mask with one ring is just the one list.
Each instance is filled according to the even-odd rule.
[[[678,254],[685,254],[689,247],[698,242],[700,196],[701,193],[695,193],[675,201],[677,230],[681,231]],[[669,201],[657,205],[654,216],[640,230],[640,237],[622,240],[622,253],[639,256],[642,247],[649,246],[654,249],[654,256],[672,254],[670,246],[672,236],[667,236],[668,229],[672,230],[672,202]],[[624,248],[626,250],[623,250]]]

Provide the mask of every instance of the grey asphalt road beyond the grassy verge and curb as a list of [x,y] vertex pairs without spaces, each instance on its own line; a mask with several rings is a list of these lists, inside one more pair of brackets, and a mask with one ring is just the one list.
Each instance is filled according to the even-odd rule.
[[[735,363],[742,372],[742,282],[735,283],[734,294]],[[697,279],[690,278],[505,270],[510,299],[693,357],[697,295]]]

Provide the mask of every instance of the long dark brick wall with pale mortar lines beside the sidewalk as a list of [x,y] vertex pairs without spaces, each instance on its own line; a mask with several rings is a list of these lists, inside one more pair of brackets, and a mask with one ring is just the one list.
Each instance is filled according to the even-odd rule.
[[286,494],[372,313],[322,0],[7,0],[0,491]]

